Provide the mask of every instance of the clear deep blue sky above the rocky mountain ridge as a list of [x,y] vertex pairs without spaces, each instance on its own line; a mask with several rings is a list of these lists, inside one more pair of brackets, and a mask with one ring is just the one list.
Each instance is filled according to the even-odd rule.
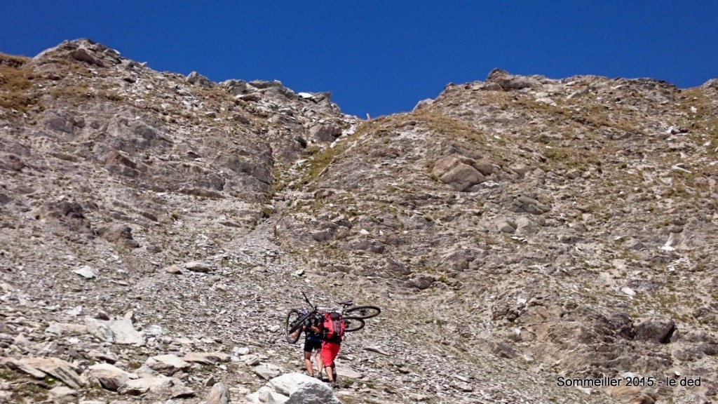
[[364,117],[493,68],[562,78],[718,78],[715,1],[0,0],[0,52],[88,37],[155,70],[332,91]]

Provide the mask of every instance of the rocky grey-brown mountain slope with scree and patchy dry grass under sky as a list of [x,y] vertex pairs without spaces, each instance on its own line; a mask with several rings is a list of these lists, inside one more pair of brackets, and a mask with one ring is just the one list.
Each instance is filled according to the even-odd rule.
[[88,40],[0,55],[0,397],[244,403],[301,371],[304,290],[383,307],[345,403],[711,402],[717,116],[717,81],[494,70],[360,121]]

